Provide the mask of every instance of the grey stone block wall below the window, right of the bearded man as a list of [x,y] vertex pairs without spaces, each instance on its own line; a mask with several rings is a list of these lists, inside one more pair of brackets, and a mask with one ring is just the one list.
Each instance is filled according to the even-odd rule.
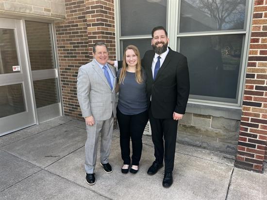
[[235,119],[185,113],[179,120],[177,141],[235,155],[239,125]]

